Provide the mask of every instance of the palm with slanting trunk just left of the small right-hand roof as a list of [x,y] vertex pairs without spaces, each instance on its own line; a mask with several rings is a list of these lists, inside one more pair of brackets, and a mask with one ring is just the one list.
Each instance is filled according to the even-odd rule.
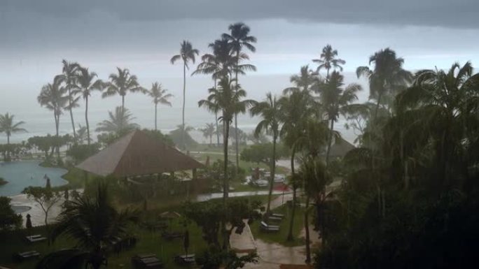
[[321,104],[331,129],[326,147],[326,168],[328,167],[329,152],[333,141],[334,123],[338,121],[340,115],[354,112],[354,108],[361,106],[352,104],[358,99],[356,92],[361,91],[361,85],[352,83],[343,87],[344,84],[344,76],[338,71],[333,71],[329,80],[319,86]]

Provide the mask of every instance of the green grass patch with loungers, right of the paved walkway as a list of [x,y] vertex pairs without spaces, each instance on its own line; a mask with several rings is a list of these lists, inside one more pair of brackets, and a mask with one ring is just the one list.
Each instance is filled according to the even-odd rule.
[[[304,238],[300,238],[301,230],[305,226],[304,222],[304,208],[296,208],[294,224],[293,224],[293,241],[286,241],[289,231],[289,221],[291,220],[291,209],[286,205],[283,205],[275,210],[272,210],[275,213],[284,214],[286,217],[279,224],[279,232],[277,233],[265,233],[260,231],[260,222],[255,221],[251,225],[251,233],[253,233],[254,238],[261,239],[265,242],[274,242],[284,245],[286,247],[296,247],[300,245],[305,245]],[[276,225],[276,224],[275,224]]]

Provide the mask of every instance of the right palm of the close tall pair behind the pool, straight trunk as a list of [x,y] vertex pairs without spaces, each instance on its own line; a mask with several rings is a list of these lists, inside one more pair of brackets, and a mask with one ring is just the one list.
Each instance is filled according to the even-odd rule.
[[85,122],[88,145],[90,145],[91,141],[90,123],[88,122],[88,98],[93,91],[101,91],[104,87],[102,80],[95,80],[95,78],[97,78],[97,73],[88,71],[88,68],[78,68],[78,77],[76,79],[78,82],[78,87],[80,88],[80,94],[85,100]]

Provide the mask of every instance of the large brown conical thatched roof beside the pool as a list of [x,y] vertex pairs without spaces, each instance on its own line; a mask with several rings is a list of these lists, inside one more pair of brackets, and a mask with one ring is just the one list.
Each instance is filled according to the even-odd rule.
[[96,175],[130,177],[201,168],[195,159],[142,131],[132,131],[76,166]]

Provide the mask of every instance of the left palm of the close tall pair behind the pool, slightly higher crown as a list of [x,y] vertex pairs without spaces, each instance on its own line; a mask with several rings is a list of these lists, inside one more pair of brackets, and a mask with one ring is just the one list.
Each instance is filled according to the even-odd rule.
[[60,76],[65,83],[65,89],[67,89],[68,92],[68,104],[65,106],[65,109],[70,112],[71,128],[74,131],[74,138],[76,138],[75,122],[71,110],[73,108],[78,108],[78,100],[80,99],[80,97],[76,96],[78,94],[76,78],[78,76],[78,68],[80,68],[80,65],[78,63],[69,62],[65,59],[62,60],[62,64],[62,75]]

